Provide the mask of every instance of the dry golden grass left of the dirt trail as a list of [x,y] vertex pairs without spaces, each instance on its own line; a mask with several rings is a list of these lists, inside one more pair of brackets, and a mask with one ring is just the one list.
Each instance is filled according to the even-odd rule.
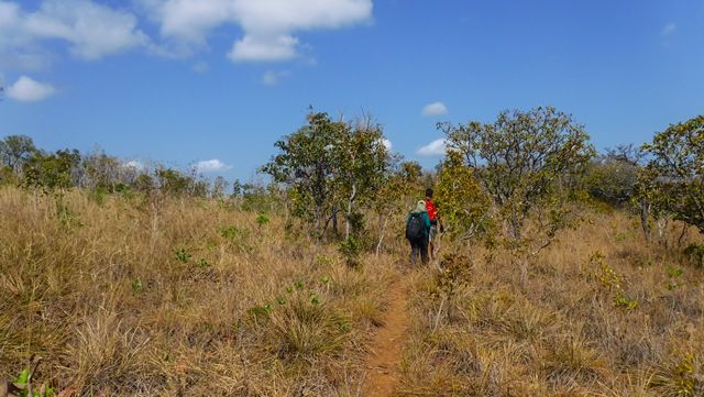
[[216,201],[0,189],[0,377],[75,395],[349,396],[393,266]]

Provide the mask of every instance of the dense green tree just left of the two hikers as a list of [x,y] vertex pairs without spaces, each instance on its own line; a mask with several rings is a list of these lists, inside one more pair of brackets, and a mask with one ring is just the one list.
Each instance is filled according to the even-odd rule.
[[279,153],[262,167],[288,189],[293,214],[308,220],[322,238],[338,213],[345,218],[345,239],[363,224],[362,206],[383,184],[391,157],[378,125],[308,115],[308,125],[276,143]]

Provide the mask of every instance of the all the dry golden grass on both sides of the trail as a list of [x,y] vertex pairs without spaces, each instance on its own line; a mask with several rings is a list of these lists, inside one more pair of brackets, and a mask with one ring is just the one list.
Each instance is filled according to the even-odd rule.
[[[0,377],[38,354],[37,384],[81,396],[359,395],[406,262],[400,234],[349,268],[275,214],[260,225],[210,200],[64,202],[0,189]],[[586,219],[527,278],[482,247],[450,260],[451,280],[406,272],[398,394],[704,395],[704,271],[676,231],[670,249],[646,246],[624,214]]]

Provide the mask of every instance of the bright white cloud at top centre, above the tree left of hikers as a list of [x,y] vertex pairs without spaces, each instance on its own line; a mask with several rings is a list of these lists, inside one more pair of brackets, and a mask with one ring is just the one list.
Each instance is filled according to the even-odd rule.
[[371,20],[372,0],[139,0],[164,37],[204,46],[208,32],[237,24],[233,62],[277,62],[298,55],[298,31],[338,29]]

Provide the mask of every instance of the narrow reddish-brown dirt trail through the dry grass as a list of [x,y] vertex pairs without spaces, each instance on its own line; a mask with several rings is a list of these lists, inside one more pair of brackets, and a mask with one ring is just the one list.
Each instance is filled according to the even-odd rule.
[[404,337],[408,329],[408,286],[400,277],[388,288],[388,308],[384,326],[372,340],[369,370],[362,396],[393,396],[400,379],[398,364],[402,359]]

